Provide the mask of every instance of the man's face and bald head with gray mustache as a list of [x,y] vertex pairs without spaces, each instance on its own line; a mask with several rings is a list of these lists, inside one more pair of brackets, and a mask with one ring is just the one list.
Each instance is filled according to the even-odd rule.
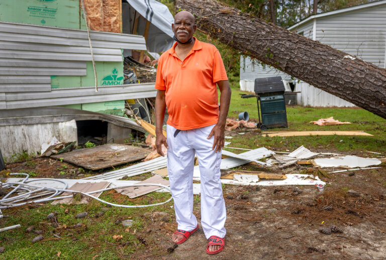
[[174,24],[171,25],[171,29],[178,41],[187,42],[196,32],[194,16],[189,12],[179,12],[174,17]]

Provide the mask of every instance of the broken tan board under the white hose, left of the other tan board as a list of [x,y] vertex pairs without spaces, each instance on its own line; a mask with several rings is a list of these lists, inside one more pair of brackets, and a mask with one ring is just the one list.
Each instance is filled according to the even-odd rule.
[[[74,190],[74,191],[81,191],[84,193],[90,192],[90,191],[97,191],[97,190],[102,190],[106,189],[110,185],[110,182],[104,181],[104,182],[86,182],[86,183],[75,183],[71,187],[69,187],[69,190]],[[99,193],[92,193],[91,195],[94,197],[99,197],[102,194],[102,192]],[[69,192],[64,192],[61,196],[68,196],[71,195]],[[80,201],[74,201],[73,198],[66,198],[66,199],[61,199],[61,200],[54,200],[51,205],[56,205],[56,204],[87,204],[92,198],[87,197],[87,196],[82,196]]]

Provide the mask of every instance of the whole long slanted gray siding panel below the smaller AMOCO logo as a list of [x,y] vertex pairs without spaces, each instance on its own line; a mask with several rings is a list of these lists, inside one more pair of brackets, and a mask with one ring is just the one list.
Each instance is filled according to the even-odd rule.
[[155,97],[154,83],[121,86],[53,89],[50,92],[5,93],[6,109],[106,102],[132,98]]

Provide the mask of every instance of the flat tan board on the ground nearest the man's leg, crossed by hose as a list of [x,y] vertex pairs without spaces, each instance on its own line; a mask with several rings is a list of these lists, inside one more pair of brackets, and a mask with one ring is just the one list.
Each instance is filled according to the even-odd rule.
[[[169,181],[163,179],[161,176],[154,175],[153,177],[150,177],[149,179],[139,182],[138,184],[147,184],[147,183],[154,183],[154,184],[162,184],[165,186],[169,186]],[[141,195],[150,193],[152,191],[156,191],[162,189],[160,186],[138,186],[138,187],[127,187],[122,189],[116,189],[117,192],[129,196],[129,198],[136,198]]]

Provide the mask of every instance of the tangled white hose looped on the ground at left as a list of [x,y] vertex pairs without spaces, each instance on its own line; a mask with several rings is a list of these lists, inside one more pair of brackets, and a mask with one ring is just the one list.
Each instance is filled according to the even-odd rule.
[[[19,174],[18,173],[11,173],[10,175],[19,175]],[[41,179],[28,180],[29,175],[28,174],[23,174],[23,175],[27,175],[27,176],[22,182],[15,182],[15,183],[13,183],[13,182],[11,182],[11,183],[0,182],[0,184],[3,184],[3,187],[12,187],[13,188],[16,185],[14,190],[12,190],[10,192],[11,194],[16,192],[18,189],[28,190],[28,192],[24,192],[21,195],[14,196],[11,198],[8,198],[10,195],[10,193],[8,193],[3,199],[0,200],[0,205],[1,205],[0,209],[14,208],[14,207],[20,207],[20,206],[23,206],[26,204],[41,203],[41,202],[47,202],[47,201],[52,201],[52,200],[57,200],[57,199],[65,199],[65,198],[72,198],[73,197],[73,195],[55,197],[57,195],[60,195],[63,192],[80,193],[80,194],[83,194],[84,196],[93,198],[93,199],[98,200],[102,203],[109,204],[112,206],[117,206],[117,207],[123,207],[123,208],[144,208],[144,207],[158,206],[158,205],[166,204],[173,199],[172,197],[170,197],[168,200],[166,200],[164,202],[160,202],[160,203],[156,203],[156,204],[150,204],[150,205],[134,205],[134,206],[132,206],[132,205],[120,205],[120,204],[115,204],[115,203],[111,203],[111,202],[102,200],[102,199],[94,197],[90,194],[100,193],[100,192],[104,192],[104,191],[108,191],[108,190],[112,190],[112,189],[121,189],[121,188],[138,187],[138,186],[160,186],[160,187],[166,188],[169,191],[170,191],[170,188],[168,186],[165,186],[162,184],[148,183],[148,184],[131,184],[131,185],[125,185],[125,186],[119,186],[119,187],[113,187],[113,188],[106,188],[106,189],[102,189],[102,190],[98,190],[98,191],[80,192],[80,191],[75,191],[75,190],[68,190],[67,189],[67,186],[68,186],[67,183],[64,181],[61,181],[61,180],[56,180],[56,179],[51,179],[51,178],[41,178]],[[42,188],[42,187],[33,186],[31,184],[28,184],[30,182],[41,181],[41,180],[50,180],[50,181],[61,182],[64,184],[64,189],[56,189],[56,188],[49,188],[49,187],[43,187]],[[27,187],[24,187],[24,186],[27,186]],[[35,190],[31,190],[31,188],[34,188]],[[33,193],[40,192],[40,191],[49,191],[49,192],[46,194],[31,196]],[[25,201],[22,203],[15,203],[15,202],[20,202],[20,201],[23,201],[26,199],[36,198],[36,197],[40,197],[40,196],[44,196],[44,195],[50,195],[50,196],[48,196],[46,198],[38,199],[38,200]]]

